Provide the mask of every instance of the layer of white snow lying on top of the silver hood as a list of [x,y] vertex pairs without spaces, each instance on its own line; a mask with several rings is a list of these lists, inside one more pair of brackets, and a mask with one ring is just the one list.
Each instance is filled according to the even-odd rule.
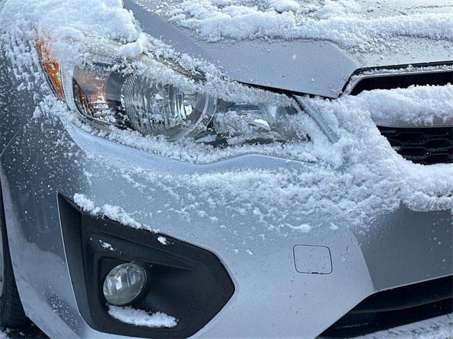
[[[377,8],[385,6],[389,5],[377,1]],[[372,16],[369,13],[374,12],[373,8],[365,10],[357,0],[167,0],[154,12],[208,41],[315,39],[365,50],[398,36],[452,40],[451,8],[439,9],[429,13],[408,9]]]

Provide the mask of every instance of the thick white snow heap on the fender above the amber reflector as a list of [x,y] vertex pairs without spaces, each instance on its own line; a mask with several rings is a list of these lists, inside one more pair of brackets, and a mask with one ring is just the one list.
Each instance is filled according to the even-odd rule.
[[[81,13],[82,12],[82,13]],[[84,59],[84,42],[96,37],[131,43],[140,40],[131,13],[122,0],[8,0],[0,15],[0,43],[14,66],[16,78],[42,83],[34,44],[45,42],[59,60]],[[6,32],[6,33],[5,33]],[[123,52],[137,52],[125,47]]]

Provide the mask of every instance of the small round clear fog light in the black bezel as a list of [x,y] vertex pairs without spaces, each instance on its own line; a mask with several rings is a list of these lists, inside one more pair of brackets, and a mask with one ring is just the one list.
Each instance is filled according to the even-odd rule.
[[147,273],[135,263],[115,266],[104,280],[104,297],[110,304],[131,304],[147,285]]

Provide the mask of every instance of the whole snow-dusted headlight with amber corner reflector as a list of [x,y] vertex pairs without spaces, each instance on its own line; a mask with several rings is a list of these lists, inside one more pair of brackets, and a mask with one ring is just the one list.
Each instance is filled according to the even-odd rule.
[[[294,124],[294,107],[222,100],[200,85],[205,81],[200,74],[172,61],[149,54],[127,62],[93,55],[90,64],[59,65],[45,52],[40,55],[42,69],[59,96],[99,126],[165,136],[168,141],[190,137],[213,144],[306,138]],[[181,85],[180,79],[186,83]]]

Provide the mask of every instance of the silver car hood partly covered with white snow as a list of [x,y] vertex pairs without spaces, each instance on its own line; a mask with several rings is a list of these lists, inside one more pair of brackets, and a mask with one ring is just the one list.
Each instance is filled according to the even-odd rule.
[[453,2],[125,0],[144,32],[236,81],[337,97],[358,69],[453,60]]

